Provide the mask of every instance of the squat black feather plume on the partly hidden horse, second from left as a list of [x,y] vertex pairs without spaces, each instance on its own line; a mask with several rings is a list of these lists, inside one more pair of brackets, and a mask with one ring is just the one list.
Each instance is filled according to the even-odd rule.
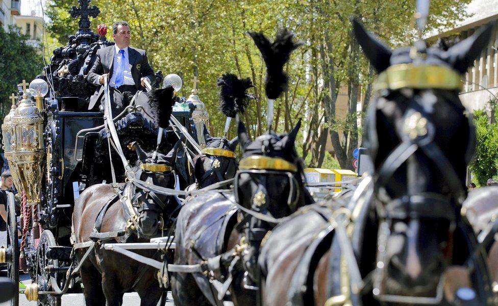
[[225,73],[218,78],[219,110],[227,117],[235,118],[237,113],[243,113],[253,97],[247,89],[254,87],[251,79],[239,80],[237,75]]

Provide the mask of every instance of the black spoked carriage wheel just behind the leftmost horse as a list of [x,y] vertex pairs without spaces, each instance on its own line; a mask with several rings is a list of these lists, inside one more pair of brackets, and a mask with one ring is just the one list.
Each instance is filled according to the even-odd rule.
[[[40,241],[36,248],[36,262],[38,265],[36,274],[40,291],[53,291],[54,283],[61,288],[63,275],[45,270],[45,267],[49,265],[53,265],[56,268],[59,267],[58,260],[47,259],[45,255],[47,250],[56,245],[54,234],[51,231],[45,230],[41,233]],[[61,297],[59,295],[39,295],[37,304],[43,306],[60,306]]]

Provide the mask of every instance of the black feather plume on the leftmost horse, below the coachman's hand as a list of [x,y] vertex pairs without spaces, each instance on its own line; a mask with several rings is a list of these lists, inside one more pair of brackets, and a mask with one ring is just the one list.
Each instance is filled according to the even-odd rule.
[[173,87],[156,89],[151,93],[149,102],[155,114],[155,123],[158,127],[166,129],[169,126],[169,118],[173,112]]

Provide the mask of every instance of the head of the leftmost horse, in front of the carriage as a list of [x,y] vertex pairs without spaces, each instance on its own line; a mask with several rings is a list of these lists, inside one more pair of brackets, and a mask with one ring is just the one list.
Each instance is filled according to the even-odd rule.
[[[152,185],[165,188],[175,188],[175,174],[173,173],[173,161],[175,153],[180,145],[180,140],[164,155],[157,151],[145,152],[138,144],[135,144],[138,161],[133,169],[135,177]],[[176,203],[171,209],[170,196],[155,193],[152,190],[136,189],[137,200],[134,205],[138,208],[138,231],[141,236],[154,237],[164,226],[164,220],[169,216]]]

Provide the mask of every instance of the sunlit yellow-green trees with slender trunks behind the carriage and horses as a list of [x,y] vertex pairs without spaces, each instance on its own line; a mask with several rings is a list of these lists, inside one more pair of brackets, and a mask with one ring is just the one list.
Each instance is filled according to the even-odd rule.
[[[466,16],[469,2],[431,1],[427,31],[451,27]],[[63,44],[67,40],[62,39],[77,28],[67,13],[72,5],[76,1],[51,0],[47,9],[52,19],[49,30]],[[211,114],[210,130],[216,135],[222,133],[224,124],[223,117],[216,115],[216,79],[225,72],[251,78],[255,99],[243,120],[251,136],[266,130],[264,63],[246,31],[261,31],[267,37],[275,37],[280,28],[294,32],[305,45],[285,67],[289,86],[275,101],[272,129],[289,131],[302,118],[298,150],[311,167],[335,164],[326,150],[331,139],[340,167],[351,169],[352,151],[361,143],[363,127],[358,115],[362,112],[357,112],[357,104],[362,103],[363,111],[367,107],[375,70],[351,35],[350,16],[360,18],[393,47],[412,42],[416,35],[410,25],[414,24],[414,3],[405,0],[93,0],[91,5],[102,12],[92,21],[93,31],[101,22],[110,26],[116,20],[127,20],[132,45],[147,50],[153,68],[183,78],[181,94],[189,95],[190,79],[200,79],[198,94]],[[345,114],[337,111],[342,92],[347,97]],[[235,132],[232,125],[229,136]]]

